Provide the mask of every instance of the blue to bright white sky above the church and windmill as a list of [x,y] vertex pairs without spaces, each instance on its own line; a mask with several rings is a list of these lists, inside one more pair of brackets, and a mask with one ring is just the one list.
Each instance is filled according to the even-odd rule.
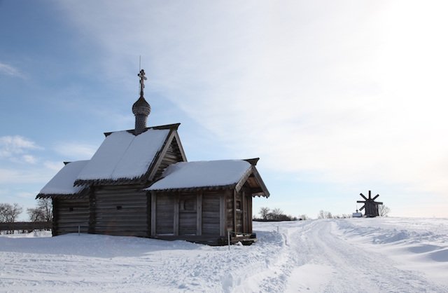
[[0,203],[64,161],[181,123],[188,161],[260,158],[285,214],[448,217],[446,1],[0,0]]

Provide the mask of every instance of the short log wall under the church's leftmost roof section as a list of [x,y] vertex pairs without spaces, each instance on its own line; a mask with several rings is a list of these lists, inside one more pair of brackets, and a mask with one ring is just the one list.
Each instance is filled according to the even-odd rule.
[[87,233],[89,228],[89,198],[53,198],[52,235]]

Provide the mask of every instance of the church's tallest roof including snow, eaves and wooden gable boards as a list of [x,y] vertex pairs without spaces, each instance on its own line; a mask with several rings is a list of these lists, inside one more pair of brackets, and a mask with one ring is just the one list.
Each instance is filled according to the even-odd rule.
[[157,174],[163,158],[176,144],[178,161],[186,156],[177,134],[180,123],[146,128],[140,135],[133,130],[105,133],[106,139],[81,170],[76,185],[147,184]]

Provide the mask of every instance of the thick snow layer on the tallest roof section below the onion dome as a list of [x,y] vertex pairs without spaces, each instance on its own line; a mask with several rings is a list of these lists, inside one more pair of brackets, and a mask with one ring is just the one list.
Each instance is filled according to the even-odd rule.
[[81,170],[76,184],[144,176],[165,144],[169,131],[148,129],[137,136],[127,131],[112,132]]

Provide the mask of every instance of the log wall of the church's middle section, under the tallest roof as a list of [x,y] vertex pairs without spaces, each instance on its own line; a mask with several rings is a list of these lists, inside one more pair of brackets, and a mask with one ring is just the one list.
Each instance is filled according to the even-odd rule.
[[101,186],[94,191],[94,203],[95,233],[148,235],[146,192],[131,186]]

